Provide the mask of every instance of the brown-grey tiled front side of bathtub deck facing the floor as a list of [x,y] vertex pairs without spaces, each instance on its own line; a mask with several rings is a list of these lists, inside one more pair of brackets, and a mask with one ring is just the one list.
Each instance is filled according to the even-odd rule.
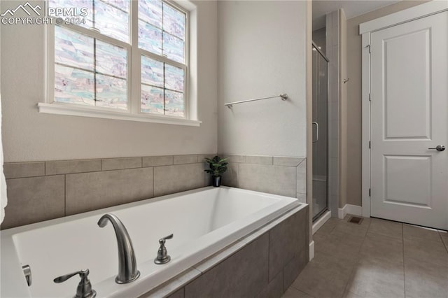
[[140,298],[281,297],[309,260],[308,218],[293,209]]

